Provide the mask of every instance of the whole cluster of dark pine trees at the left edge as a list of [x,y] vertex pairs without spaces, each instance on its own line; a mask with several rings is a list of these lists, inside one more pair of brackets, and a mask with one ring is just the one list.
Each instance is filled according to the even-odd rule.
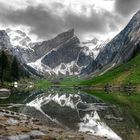
[[17,81],[20,77],[24,76],[24,72],[20,67],[20,64],[16,56],[11,56],[5,51],[0,52],[0,82],[4,81],[12,82]]

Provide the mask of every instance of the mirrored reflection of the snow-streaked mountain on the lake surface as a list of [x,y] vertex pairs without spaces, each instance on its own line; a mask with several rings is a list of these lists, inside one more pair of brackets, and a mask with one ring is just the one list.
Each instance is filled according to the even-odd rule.
[[104,122],[104,120],[113,120],[114,125],[117,125],[117,122],[123,123],[117,107],[88,94],[62,92],[62,90],[51,89],[34,97],[32,101],[27,99],[27,107],[23,112],[37,117],[44,124],[92,133],[114,140],[121,139]]

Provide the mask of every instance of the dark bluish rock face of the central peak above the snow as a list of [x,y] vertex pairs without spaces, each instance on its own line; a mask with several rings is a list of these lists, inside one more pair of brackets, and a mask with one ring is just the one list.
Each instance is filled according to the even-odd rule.
[[70,63],[75,61],[82,49],[79,45],[79,39],[72,36],[66,42],[63,42],[55,50],[49,52],[43,59],[42,63],[49,66],[50,68],[55,68],[61,63]]

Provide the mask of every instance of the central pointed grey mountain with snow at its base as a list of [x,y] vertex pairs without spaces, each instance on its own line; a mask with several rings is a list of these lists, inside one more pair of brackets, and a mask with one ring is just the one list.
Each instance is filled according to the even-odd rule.
[[80,75],[81,70],[98,55],[96,51],[99,52],[103,44],[92,46],[93,50],[89,49],[89,44],[80,43],[71,29],[51,40],[35,43],[35,57],[28,65],[45,74]]

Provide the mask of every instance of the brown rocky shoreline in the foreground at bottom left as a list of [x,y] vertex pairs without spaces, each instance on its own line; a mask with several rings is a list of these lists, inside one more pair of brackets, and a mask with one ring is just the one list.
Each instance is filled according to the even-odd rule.
[[0,140],[105,140],[86,133],[52,128],[24,114],[0,109]]

